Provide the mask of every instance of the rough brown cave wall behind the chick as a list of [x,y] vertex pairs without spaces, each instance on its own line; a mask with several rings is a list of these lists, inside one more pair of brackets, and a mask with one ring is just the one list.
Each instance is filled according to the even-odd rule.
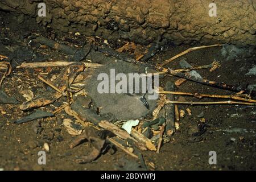
[[[37,15],[39,2],[47,5],[46,17]],[[211,2],[216,17],[208,14]],[[30,15],[56,31],[106,39],[256,46],[256,0],[1,0],[0,9]]]

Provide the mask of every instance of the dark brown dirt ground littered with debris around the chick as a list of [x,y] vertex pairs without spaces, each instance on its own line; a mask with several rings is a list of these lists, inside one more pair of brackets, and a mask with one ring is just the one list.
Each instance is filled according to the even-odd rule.
[[[0,54],[9,56],[13,48],[24,46],[27,35],[31,33],[40,34],[47,38],[59,40],[61,43],[81,46],[83,42],[89,41],[85,36],[75,36],[73,34],[61,34],[54,32],[51,28],[38,27],[35,20],[25,19],[23,24],[19,24],[1,14],[0,19]],[[102,39],[95,38],[96,43],[103,44]],[[119,48],[125,44],[111,42],[110,47]],[[200,46],[200,45],[193,45]],[[191,46],[173,46],[168,44],[150,60],[149,63],[163,63],[177,53],[188,49]],[[36,48],[36,51],[51,56],[52,60],[65,60],[67,56],[54,51],[51,48]],[[246,76],[255,62],[255,52],[249,57],[234,58],[227,60],[221,55],[221,47],[201,49],[180,57],[168,65],[170,68],[180,68],[179,60],[187,59],[192,66],[207,65],[212,61],[220,61],[221,67],[216,71],[209,72],[209,69],[198,71],[200,75],[208,80],[225,82],[230,85],[256,84],[255,76]],[[14,96],[19,101],[26,101],[20,94],[22,90],[31,90],[34,96],[46,92],[47,86],[38,80],[38,75],[51,78],[60,73],[60,68],[36,68],[36,69],[15,69],[10,77],[3,82],[2,89],[9,96]],[[3,71],[1,71],[1,77]],[[166,76],[161,80],[164,84],[166,80],[176,81],[178,78]],[[191,81],[185,81],[177,89],[180,92],[198,92],[208,94],[231,94],[232,92],[204,86]],[[216,99],[203,98],[197,100],[192,97],[184,97],[187,101],[220,101]],[[61,98],[52,105],[46,106],[50,110],[55,110],[64,101]],[[244,105],[207,105],[191,106],[179,105],[179,109],[185,110],[185,117],[180,119],[179,129],[171,137],[169,143],[165,143],[159,154],[146,151],[142,152],[146,164],[152,162],[156,170],[255,170],[256,162],[256,110],[252,106]],[[186,109],[191,110],[188,115]],[[207,125],[207,131],[199,137],[193,137],[200,117],[198,115],[204,111],[203,118]],[[82,156],[90,151],[90,146],[83,143],[73,149],[69,148],[72,136],[68,134],[63,126],[63,118],[68,118],[64,111],[61,111],[53,118],[37,119],[20,125],[15,125],[12,121],[27,115],[22,112],[19,105],[0,104],[0,168],[4,170],[117,170],[123,161],[133,163],[135,159],[126,155],[120,150],[115,154],[102,154],[98,159],[88,164],[77,164],[74,160],[77,156]],[[40,123],[42,132],[36,134],[36,123]],[[50,152],[47,153],[47,164],[39,166],[38,152],[42,150],[42,145],[47,142]],[[209,151],[216,151],[217,164],[210,165]],[[131,168],[134,169],[134,168]]]

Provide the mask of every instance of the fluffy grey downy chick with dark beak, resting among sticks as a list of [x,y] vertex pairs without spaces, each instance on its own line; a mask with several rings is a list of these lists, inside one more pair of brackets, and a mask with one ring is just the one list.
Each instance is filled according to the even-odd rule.
[[[100,114],[111,114],[114,118],[138,119],[152,113],[156,107],[157,100],[150,100],[149,93],[99,93],[98,84],[102,80],[97,80],[98,75],[106,73],[110,76],[110,69],[115,70],[115,74],[123,73],[144,73],[145,67],[139,65],[117,61],[115,63],[102,65],[86,80],[85,91],[92,97],[94,104],[100,108]],[[150,72],[150,71],[149,71]],[[128,78],[128,76],[127,76]],[[110,81],[109,81],[110,82]],[[117,84],[118,81],[115,81]],[[110,87],[110,84],[109,84]],[[128,85],[127,85],[128,88]],[[110,90],[110,88],[108,88]],[[141,88],[140,88],[141,89]],[[142,89],[141,89],[142,90]]]

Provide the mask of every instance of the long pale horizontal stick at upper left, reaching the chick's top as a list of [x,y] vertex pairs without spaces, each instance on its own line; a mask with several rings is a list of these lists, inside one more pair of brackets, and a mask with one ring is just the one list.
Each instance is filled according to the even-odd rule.
[[[77,63],[77,61],[50,61],[50,62],[34,62],[34,63],[22,63],[21,65],[17,66],[16,69],[19,68],[42,68],[42,67],[66,67],[70,64]],[[98,68],[101,64],[97,63],[87,63],[81,62],[85,65],[85,67],[90,68]],[[0,70],[3,68],[0,68]]]

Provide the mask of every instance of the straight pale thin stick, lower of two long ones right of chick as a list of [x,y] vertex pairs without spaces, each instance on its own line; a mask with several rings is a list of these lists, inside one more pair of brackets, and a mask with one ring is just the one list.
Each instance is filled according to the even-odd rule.
[[255,106],[255,103],[250,102],[234,102],[234,101],[221,101],[221,102],[180,102],[180,101],[167,101],[166,104],[187,104],[187,105],[216,105],[216,104],[235,104],[235,105],[251,105]]

